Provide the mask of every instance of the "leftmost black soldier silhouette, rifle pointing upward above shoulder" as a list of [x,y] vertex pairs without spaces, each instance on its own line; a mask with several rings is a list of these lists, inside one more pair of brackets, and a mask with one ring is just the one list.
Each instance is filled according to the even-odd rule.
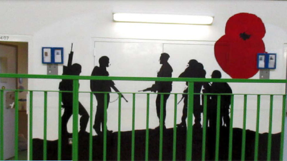
[[[69,54],[68,66],[63,67],[63,75],[80,75],[81,65],[75,63],[72,65],[74,52],[72,51],[73,44],[71,47],[71,52]],[[62,116],[62,135],[69,135],[67,131],[67,123],[73,114],[73,80],[63,79],[59,84],[60,91],[69,91],[62,93],[62,103],[65,109]],[[89,114],[84,108],[84,106],[79,102],[79,115],[80,118],[80,132],[79,134],[86,134],[86,127],[89,121]]]

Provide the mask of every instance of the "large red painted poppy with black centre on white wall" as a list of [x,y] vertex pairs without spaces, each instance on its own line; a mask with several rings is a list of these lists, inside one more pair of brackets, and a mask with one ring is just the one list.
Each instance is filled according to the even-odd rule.
[[266,31],[262,20],[251,13],[238,13],[230,17],[225,35],[214,46],[216,60],[222,70],[232,78],[251,78],[257,72],[257,53],[265,52],[262,40]]

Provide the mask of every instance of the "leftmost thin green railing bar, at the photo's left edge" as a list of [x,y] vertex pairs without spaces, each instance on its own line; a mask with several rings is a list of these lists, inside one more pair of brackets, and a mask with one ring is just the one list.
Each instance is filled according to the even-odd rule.
[[0,90],[0,160],[4,160],[4,91]]

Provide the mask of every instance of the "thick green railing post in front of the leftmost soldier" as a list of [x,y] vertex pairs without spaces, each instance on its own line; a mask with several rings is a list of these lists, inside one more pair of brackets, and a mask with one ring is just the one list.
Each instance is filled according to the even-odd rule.
[[79,80],[73,80],[73,146],[72,159],[78,160],[78,115],[79,115]]

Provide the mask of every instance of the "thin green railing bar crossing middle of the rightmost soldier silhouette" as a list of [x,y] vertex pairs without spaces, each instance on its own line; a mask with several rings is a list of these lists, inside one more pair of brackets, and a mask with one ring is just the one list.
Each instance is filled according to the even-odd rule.
[[221,116],[220,116],[220,102],[221,95],[217,95],[217,113],[216,113],[216,141],[215,141],[215,160],[219,160],[219,139],[220,139],[220,123],[221,123]]

